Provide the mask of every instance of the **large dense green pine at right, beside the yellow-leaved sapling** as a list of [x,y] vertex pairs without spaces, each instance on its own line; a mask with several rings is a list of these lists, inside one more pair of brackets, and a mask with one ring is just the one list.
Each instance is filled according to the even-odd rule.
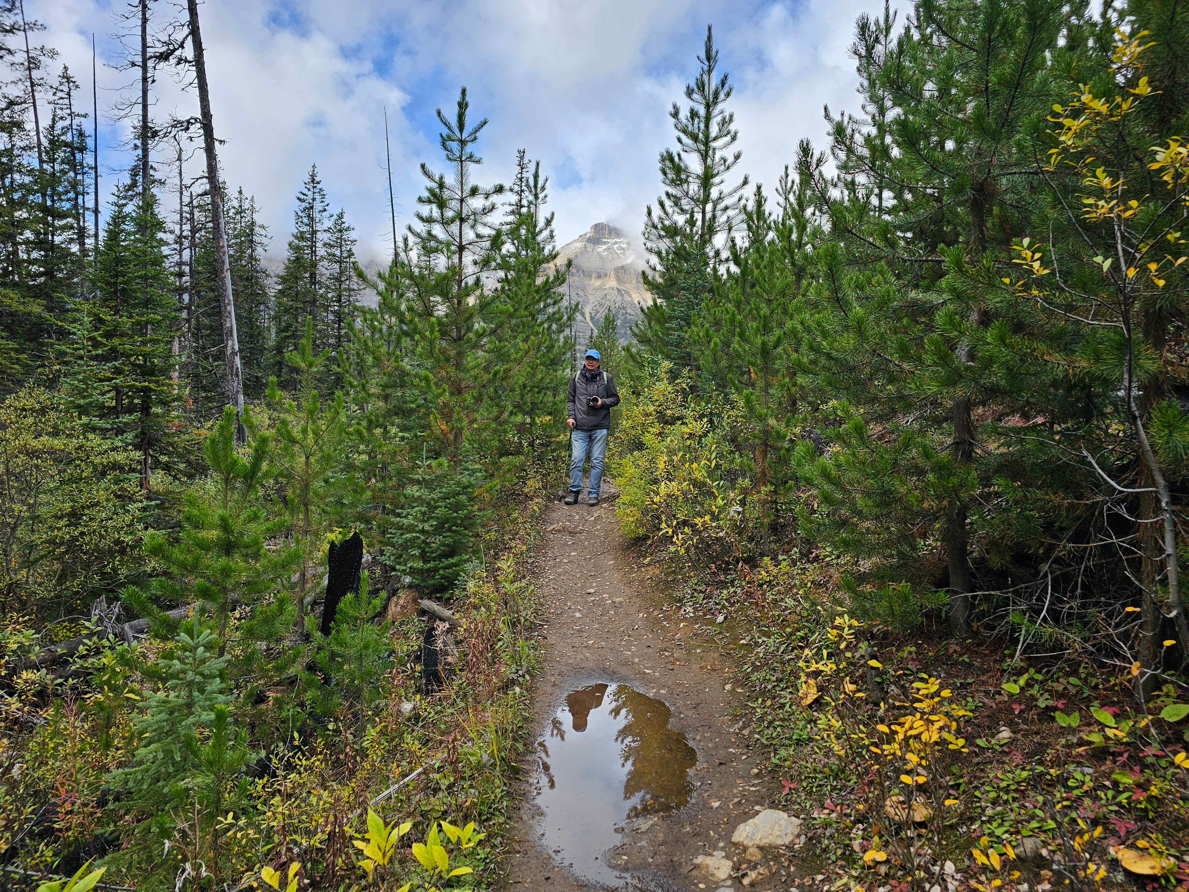
[[[862,17],[853,52],[867,117],[835,121],[841,176],[816,187],[822,196],[835,190],[822,202],[838,244],[816,252],[813,304],[822,315],[803,340],[816,340],[817,356],[804,375],[809,382],[819,370],[823,402],[839,387],[855,402],[837,417],[843,427],[833,433],[847,446],[833,453],[832,471],[813,471],[823,469],[806,452],[803,472],[831,500],[851,488],[850,504],[867,504],[868,522],[856,530],[904,547],[886,548],[875,576],[900,574],[921,590],[944,584],[955,635],[969,630],[970,592],[984,588],[975,584],[971,540],[982,553],[996,549],[988,505],[1002,457],[980,451],[996,425],[976,429],[976,409],[1009,398],[976,345],[987,332],[1023,323],[995,285],[994,265],[1011,262],[1009,233],[1028,225],[1039,200],[1027,169],[1032,127],[1050,106],[1049,59],[1086,45],[1087,20],[1084,7],[1056,0],[987,0],[973,11],[920,2],[895,37],[891,14]],[[845,264],[870,269],[856,275]],[[963,265],[980,272],[948,277]],[[883,290],[858,297],[856,289],[870,288]],[[828,344],[838,352],[825,356]],[[1001,410],[1011,414],[1008,404]],[[880,486],[864,489],[861,476],[876,466]],[[913,491],[927,498],[908,497]],[[944,569],[920,559],[933,535]]]

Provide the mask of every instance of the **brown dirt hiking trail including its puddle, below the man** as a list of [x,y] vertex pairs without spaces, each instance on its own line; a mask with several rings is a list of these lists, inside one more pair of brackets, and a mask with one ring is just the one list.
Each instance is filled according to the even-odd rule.
[[[548,610],[536,747],[522,760],[503,888],[738,890],[744,868],[757,866],[770,873],[751,888],[789,888],[791,849],[749,863],[730,843],[780,787],[748,748],[743,696],[725,690],[734,689],[730,660],[696,635],[692,617],[663,609],[610,504],[554,503],[542,522],[531,567]],[[615,725],[616,716],[627,724]],[[599,735],[609,746],[591,761]],[[618,815],[608,811],[615,803]],[[732,875],[715,879],[694,865],[716,850],[732,859]]]

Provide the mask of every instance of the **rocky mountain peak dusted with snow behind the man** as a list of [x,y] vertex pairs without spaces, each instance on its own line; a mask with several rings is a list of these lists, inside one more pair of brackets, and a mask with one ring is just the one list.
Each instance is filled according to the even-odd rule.
[[609,307],[619,321],[619,340],[628,340],[628,329],[640,319],[641,308],[652,302],[642,278],[647,269],[643,251],[622,231],[599,222],[561,247],[559,268],[564,269],[566,260],[573,260],[568,288],[578,304],[578,346],[586,345]]

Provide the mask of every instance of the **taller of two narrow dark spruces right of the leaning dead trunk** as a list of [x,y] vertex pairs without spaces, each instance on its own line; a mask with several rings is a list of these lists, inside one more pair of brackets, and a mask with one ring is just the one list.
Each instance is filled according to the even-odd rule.
[[294,232],[273,295],[272,371],[282,389],[295,383],[285,357],[297,348],[307,319],[314,320],[314,351],[320,353],[326,347],[327,208],[326,190],[314,164],[297,193]]

